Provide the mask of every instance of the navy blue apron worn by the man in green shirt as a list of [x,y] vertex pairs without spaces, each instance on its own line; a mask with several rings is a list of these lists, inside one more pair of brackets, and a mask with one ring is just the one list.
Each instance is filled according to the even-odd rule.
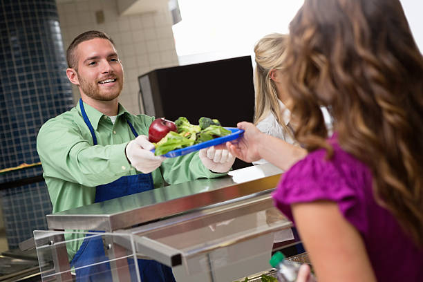
[[[88,116],[86,115],[84,104],[79,99],[79,106],[81,107],[82,118],[91,131],[94,145],[97,144],[97,138],[95,137],[93,126],[91,125]],[[138,133],[133,128],[131,122],[126,119],[129,127],[135,138]],[[111,200],[122,196],[127,196],[142,191],[153,189],[153,177],[151,173],[147,174],[135,174],[133,176],[122,176],[118,180],[115,180],[109,184],[99,185],[95,188],[95,200],[94,203],[99,203],[104,200]],[[84,267],[93,263],[99,263],[100,261],[109,261],[104,253],[102,236],[86,236],[82,242],[81,247],[73,257],[71,266],[75,267],[76,281],[112,281],[110,264],[100,263],[98,265],[92,265],[90,267]],[[131,272],[131,280],[136,281],[135,266],[133,265],[133,259],[128,259],[129,269]],[[84,267],[80,270],[77,267]],[[175,281],[172,270],[166,265],[162,265],[157,261],[138,259],[138,267],[140,270],[140,278],[142,282],[168,282]],[[176,282],[176,281],[175,281]]]

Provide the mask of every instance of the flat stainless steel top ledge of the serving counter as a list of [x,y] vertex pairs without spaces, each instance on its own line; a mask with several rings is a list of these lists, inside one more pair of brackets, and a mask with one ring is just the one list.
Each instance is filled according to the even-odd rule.
[[231,177],[200,179],[47,215],[49,229],[113,232],[151,220],[273,189],[280,174],[236,184]]

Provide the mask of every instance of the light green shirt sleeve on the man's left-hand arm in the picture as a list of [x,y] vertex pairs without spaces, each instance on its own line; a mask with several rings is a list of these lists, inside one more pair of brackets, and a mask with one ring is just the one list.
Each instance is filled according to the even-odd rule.
[[129,174],[126,144],[93,146],[92,140],[84,139],[77,124],[69,120],[49,120],[37,136],[44,178],[60,178],[87,187],[113,182]]

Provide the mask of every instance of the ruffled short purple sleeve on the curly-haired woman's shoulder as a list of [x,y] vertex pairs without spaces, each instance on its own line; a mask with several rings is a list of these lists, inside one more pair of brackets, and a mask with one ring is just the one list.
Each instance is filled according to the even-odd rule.
[[366,232],[363,187],[358,187],[357,167],[338,158],[325,160],[326,151],[310,153],[297,162],[281,178],[272,195],[274,204],[283,214],[293,220],[290,205],[316,200],[330,200],[339,206],[339,211],[359,232]]

